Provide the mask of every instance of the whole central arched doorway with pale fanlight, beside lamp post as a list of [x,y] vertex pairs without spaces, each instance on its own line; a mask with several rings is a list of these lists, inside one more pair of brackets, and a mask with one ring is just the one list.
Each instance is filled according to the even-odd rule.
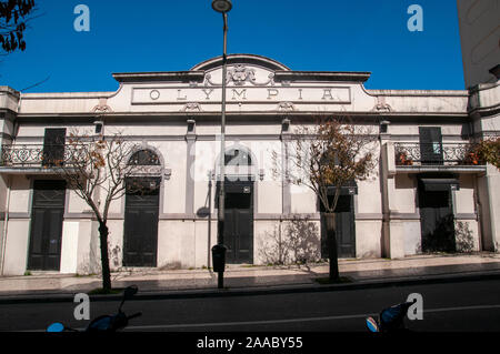
[[[240,145],[226,151],[223,244],[228,247],[226,260],[230,264],[253,263],[253,160]],[[216,203],[219,205],[218,200]]]

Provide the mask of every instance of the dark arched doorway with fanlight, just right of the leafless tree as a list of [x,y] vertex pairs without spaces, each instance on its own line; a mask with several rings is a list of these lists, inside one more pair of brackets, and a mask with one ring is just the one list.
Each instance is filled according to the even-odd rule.
[[[160,159],[151,150],[139,150],[131,155],[129,165],[147,171],[159,166]],[[123,266],[157,266],[160,185],[161,178],[154,175],[126,180]]]

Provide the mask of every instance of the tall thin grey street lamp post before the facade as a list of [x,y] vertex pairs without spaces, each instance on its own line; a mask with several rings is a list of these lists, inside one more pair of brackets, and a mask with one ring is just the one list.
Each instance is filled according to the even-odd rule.
[[[220,184],[219,184],[219,215],[217,222],[217,244],[223,247],[224,240],[224,180],[226,180],[226,75],[227,75],[227,43],[228,43],[228,12],[232,8],[231,0],[212,0],[212,9],[222,13],[223,19],[223,54],[222,54],[222,114],[220,127]],[[223,270],[218,272],[218,289],[224,286]]]

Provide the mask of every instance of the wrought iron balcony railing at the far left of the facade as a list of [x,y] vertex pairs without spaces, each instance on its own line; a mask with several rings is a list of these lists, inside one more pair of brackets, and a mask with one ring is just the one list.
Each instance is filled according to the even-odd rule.
[[81,150],[69,145],[2,145],[0,166],[51,168],[71,165],[81,155]]

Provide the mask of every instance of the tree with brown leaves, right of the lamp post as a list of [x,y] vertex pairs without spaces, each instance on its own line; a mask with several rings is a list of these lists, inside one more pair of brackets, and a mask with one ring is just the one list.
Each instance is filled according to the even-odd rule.
[[330,281],[339,279],[334,210],[341,188],[369,178],[377,165],[370,150],[373,141],[370,125],[356,125],[350,118],[318,119],[314,125],[296,129],[287,156],[289,168],[274,170],[281,170],[291,183],[308,186],[320,200],[327,222]]

